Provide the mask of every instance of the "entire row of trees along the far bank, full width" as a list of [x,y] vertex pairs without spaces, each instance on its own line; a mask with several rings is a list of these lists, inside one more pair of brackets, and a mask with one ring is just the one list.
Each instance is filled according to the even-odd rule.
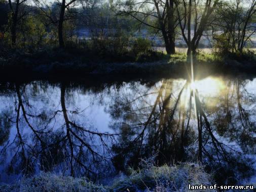
[[[86,45],[107,54],[148,52],[151,43],[134,40],[147,29],[162,37],[167,54],[182,39],[187,54],[196,55],[203,37],[218,52],[243,53],[256,30],[256,0],[2,0],[0,10],[1,45],[32,50]],[[89,37],[79,37],[81,28]]]

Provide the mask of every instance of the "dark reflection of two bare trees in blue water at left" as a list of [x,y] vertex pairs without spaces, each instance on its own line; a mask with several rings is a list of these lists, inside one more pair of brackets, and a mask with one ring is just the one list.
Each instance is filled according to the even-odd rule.
[[[90,130],[73,120],[72,116],[79,114],[79,111],[66,108],[65,84],[60,85],[60,107],[46,106],[42,111],[38,111],[37,103],[32,105],[33,101],[29,101],[26,86],[14,85],[13,111],[16,114],[3,114],[5,120],[16,128],[13,130],[16,132],[13,141],[9,139],[1,150],[1,158],[12,156],[6,167],[9,173],[26,175],[36,169],[56,169],[63,174],[75,176],[76,173],[95,178],[101,171],[111,169],[109,159],[112,152],[106,143],[108,140],[114,141],[115,134]],[[34,91],[30,92],[31,95],[36,94],[37,86],[29,85],[28,90]],[[49,101],[45,102],[49,104]]]

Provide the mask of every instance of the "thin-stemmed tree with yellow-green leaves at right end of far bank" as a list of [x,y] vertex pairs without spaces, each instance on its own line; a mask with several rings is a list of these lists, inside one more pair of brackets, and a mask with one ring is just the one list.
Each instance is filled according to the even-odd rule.
[[235,0],[223,4],[218,9],[216,13],[218,18],[212,26],[217,48],[223,52],[243,52],[246,42],[256,32],[256,26],[253,23],[255,7],[255,0]]

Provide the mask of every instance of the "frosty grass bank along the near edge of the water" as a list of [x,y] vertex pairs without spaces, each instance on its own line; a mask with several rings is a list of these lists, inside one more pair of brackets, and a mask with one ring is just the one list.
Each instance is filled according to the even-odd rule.
[[130,170],[129,176],[119,177],[112,185],[100,185],[86,178],[72,178],[42,173],[23,178],[15,184],[2,184],[2,191],[189,191],[189,184],[211,184],[211,176],[196,164],[179,166],[147,166]]

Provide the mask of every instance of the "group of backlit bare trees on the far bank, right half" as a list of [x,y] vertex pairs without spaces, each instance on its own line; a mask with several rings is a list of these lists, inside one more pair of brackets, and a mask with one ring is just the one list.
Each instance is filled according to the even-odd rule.
[[[256,1],[249,0],[145,0],[121,3],[122,14],[161,31],[166,51],[175,53],[179,36],[187,44],[187,54],[196,54],[202,36],[211,36],[221,51],[243,52],[255,32]],[[137,16],[155,18],[147,23]]]

